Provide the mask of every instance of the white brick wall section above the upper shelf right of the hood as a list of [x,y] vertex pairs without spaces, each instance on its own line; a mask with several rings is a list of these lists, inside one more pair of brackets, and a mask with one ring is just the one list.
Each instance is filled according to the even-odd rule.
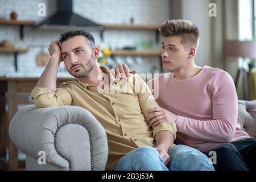
[[[86,2],[86,3],[84,3]],[[169,0],[74,0],[77,14],[98,23],[159,24],[170,18]]]

